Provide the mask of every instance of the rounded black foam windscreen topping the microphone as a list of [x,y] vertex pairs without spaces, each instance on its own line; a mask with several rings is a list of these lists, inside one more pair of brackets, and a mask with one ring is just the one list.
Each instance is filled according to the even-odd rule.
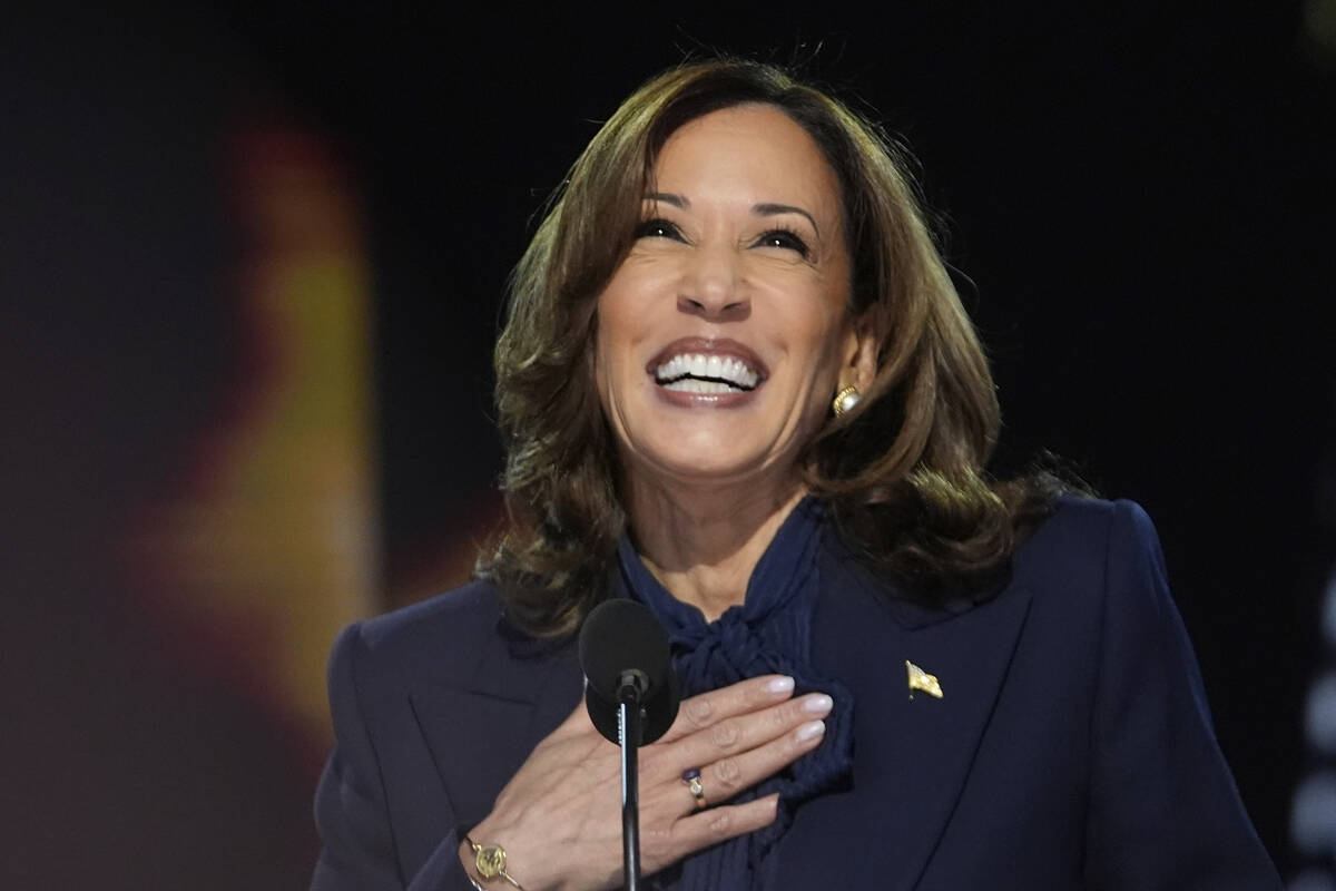
[[672,672],[668,633],[644,604],[624,597],[595,606],[580,628],[580,668],[603,697],[617,700],[621,673],[637,669],[649,681],[645,699],[665,689]]

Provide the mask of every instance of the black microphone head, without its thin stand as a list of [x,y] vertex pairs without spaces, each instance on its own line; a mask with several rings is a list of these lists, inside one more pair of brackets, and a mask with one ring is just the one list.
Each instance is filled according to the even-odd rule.
[[585,675],[585,709],[595,729],[620,741],[617,707],[639,707],[640,737],[648,745],[672,727],[681,700],[668,653],[668,635],[647,606],[635,600],[607,600],[580,628],[580,669]]

